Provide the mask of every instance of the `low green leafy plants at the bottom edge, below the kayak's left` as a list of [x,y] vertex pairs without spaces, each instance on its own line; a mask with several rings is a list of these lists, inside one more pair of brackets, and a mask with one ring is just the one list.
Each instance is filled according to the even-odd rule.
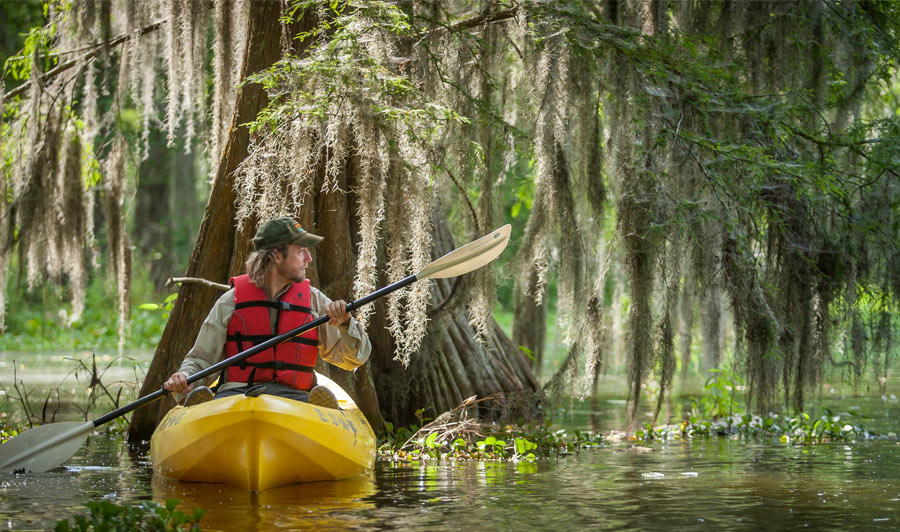
[[167,499],[165,506],[153,501],[142,501],[136,504],[118,505],[110,501],[92,501],[86,503],[88,514],[76,515],[74,524],[68,519],[56,523],[56,532],[89,530],[131,532],[133,530],[155,532],[186,532],[200,530],[197,523],[206,513],[196,508],[193,515],[185,515],[175,507],[181,501]]

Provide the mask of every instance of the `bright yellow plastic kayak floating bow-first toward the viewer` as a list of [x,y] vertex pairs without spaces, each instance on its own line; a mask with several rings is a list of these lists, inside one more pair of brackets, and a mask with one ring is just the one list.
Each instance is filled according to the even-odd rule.
[[317,378],[337,396],[340,410],[266,394],[176,406],[150,440],[153,472],[262,491],[370,471],[372,427],[346,392]]

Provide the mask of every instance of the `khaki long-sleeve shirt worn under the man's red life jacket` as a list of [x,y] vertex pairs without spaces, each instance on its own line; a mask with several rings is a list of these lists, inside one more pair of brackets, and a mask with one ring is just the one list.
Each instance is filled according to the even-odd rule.
[[[284,290],[275,295],[275,300],[279,300],[290,285],[285,286]],[[331,303],[331,299],[314,287],[309,289],[310,307],[313,311],[313,319],[325,313],[325,307]],[[269,309],[270,322],[273,328],[276,326],[277,310]],[[181,363],[179,371],[190,377],[198,371],[202,371],[213,364],[225,359],[225,339],[228,332],[228,324],[234,315],[234,288],[222,294],[210,310],[209,315],[200,326],[200,332],[194,342],[194,347],[188,351],[184,361]],[[277,331],[272,331],[276,334]],[[363,365],[372,352],[372,344],[369,342],[368,336],[362,326],[354,318],[350,318],[350,322],[339,325],[337,327],[328,325],[320,325],[319,333],[319,356],[326,362],[335,366],[353,370]],[[215,381],[218,375],[207,377],[202,384],[209,385]],[[219,390],[227,390],[245,386],[246,383],[226,382],[222,384]]]

